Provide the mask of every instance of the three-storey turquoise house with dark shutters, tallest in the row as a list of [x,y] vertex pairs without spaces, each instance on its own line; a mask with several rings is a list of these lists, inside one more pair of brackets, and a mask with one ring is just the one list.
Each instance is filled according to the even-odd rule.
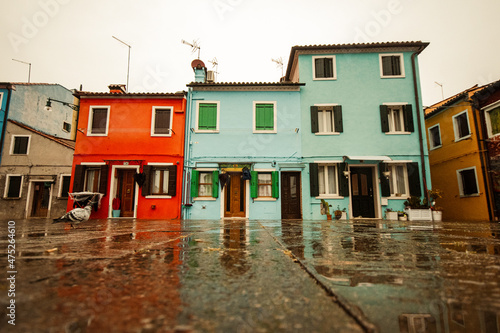
[[420,96],[422,42],[295,46],[285,80],[300,91],[303,219],[321,199],[348,218],[383,218],[423,197],[430,172]]

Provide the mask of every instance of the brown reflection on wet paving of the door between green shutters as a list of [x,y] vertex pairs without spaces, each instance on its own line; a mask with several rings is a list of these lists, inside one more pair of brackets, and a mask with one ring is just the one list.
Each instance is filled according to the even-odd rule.
[[222,266],[231,274],[242,275],[250,269],[247,257],[247,225],[245,220],[224,220],[220,256]]

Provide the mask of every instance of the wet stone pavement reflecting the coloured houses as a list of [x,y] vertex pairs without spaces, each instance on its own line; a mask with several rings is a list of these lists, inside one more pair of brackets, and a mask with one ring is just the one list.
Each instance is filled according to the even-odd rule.
[[1,332],[500,331],[498,223],[0,223]]

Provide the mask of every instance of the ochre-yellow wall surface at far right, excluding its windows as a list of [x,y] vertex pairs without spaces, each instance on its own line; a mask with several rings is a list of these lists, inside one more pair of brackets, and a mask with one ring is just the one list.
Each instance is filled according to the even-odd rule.
[[[455,142],[452,117],[464,110],[468,113],[472,135],[468,139]],[[428,129],[437,123],[440,126],[442,146],[433,150],[430,150],[430,146],[428,148],[433,188],[444,192],[443,198],[437,201],[437,206],[443,207],[443,219],[488,220],[486,189],[471,106],[468,102],[461,102],[426,119],[428,145]],[[476,167],[479,195],[461,197],[457,170],[470,167]]]

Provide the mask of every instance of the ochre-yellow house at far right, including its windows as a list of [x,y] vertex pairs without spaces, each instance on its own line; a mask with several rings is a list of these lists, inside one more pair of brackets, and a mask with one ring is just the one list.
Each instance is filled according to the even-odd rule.
[[436,204],[444,220],[494,219],[485,130],[472,98],[481,89],[476,85],[425,109],[431,180],[444,193]]

